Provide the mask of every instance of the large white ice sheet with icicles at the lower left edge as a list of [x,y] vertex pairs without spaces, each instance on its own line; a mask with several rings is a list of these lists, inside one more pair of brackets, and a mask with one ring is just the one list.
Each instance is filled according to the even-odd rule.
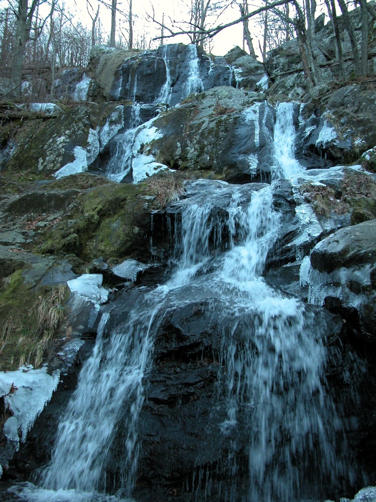
[[[5,404],[17,419],[22,441],[40,415],[59,383],[60,372],[47,373],[47,368],[22,366],[17,371],[0,372],[0,392]],[[11,387],[17,388],[10,394]]]

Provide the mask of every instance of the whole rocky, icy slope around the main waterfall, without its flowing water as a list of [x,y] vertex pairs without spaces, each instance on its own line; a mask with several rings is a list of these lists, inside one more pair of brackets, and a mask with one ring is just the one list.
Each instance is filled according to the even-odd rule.
[[[274,181],[273,207],[283,222],[264,279],[281,294],[309,302],[307,324],[325,319],[324,343],[336,361],[325,378],[344,396],[340,418],[350,424],[349,451],[356,452],[365,478],[374,476],[376,132],[369,124],[375,89],[371,81],[334,85],[327,76],[322,92],[307,93],[298,65],[296,78],[279,75],[294,55],[291,41],[269,56],[266,72],[273,84],[267,89],[264,67],[239,48],[225,58],[181,44],[146,53],[98,49],[90,79],[71,71],[57,83],[61,97],[84,89],[79,97],[86,94],[87,101],[61,102],[52,112],[3,106],[2,369],[46,361],[49,372],[62,374],[60,391],[6,471],[8,479],[26,479],[48,461],[57,417],[103,312],[116,305],[107,329],[121,329],[144,294],[136,286],[152,289],[162,282],[181,219],[173,201],[200,198],[189,182],[198,178],[217,189],[223,181],[244,184],[244,200],[247,191]],[[282,109],[272,104],[282,96],[304,101],[289,107],[289,124],[279,122]],[[276,181],[282,168],[275,140],[287,127],[294,130],[295,160],[306,170]],[[125,142],[131,152],[126,160]],[[222,222],[225,199],[215,208]],[[230,230],[221,228],[226,242]],[[213,256],[221,252],[210,245]],[[83,274],[93,275],[86,299],[71,283]],[[240,417],[245,436],[234,448],[236,438],[218,433],[223,409],[218,417],[210,412],[223,385],[220,312],[226,305],[208,292],[183,308],[167,309],[158,325],[137,430],[142,451],[136,498],[147,500],[151,491],[160,500],[204,497],[205,483],[195,484],[204,475],[226,492],[232,486],[224,467],[229,452],[247,465],[246,415]],[[11,415],[5,405],[14,393],[12,387],[6,391],[4,419]],[[121,430],[117,434],[121,443]],[[209,445],[205,437],[215,439]],[[4,465],[6,444],[3,436]],[[108,469],[116,484],[116,448],[112,459]],[[248,467],[237,472],[236,496],[244,495],[247,475]],[[341,480],[330,494],[353,494],[362,482]],[[214,489],[211,499],[218,496]]]

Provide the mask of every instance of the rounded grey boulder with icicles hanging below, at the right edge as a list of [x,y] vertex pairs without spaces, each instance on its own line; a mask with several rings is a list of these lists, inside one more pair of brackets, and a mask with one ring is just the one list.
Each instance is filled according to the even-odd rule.
[[[312,301],[343,307],[358,317],[366,340],[375,341],[376,220],[341,228],[313,248]],[[329,307],[330,308],[330,307]],[[351,322],[356,324],[353,318]]]

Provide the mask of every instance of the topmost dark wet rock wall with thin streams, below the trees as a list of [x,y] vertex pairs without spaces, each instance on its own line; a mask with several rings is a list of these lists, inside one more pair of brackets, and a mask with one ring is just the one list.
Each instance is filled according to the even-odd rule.
[[[196,61],[198,74],[191,82],[190,62]],[[96,101],[131,99],[175,105],[191,92],[220,85],[236,85],[232,68],[226,61],[213,62],[202,49],[172,44],[153,51],[102,51],[90,63],[95,74]],[[163,96],[168,80],[171,90]]]

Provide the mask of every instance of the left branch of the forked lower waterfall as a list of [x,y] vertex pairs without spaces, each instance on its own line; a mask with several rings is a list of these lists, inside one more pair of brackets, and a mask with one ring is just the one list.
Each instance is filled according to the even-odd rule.
[[123,491],[135,482],[139,444],[137,419],[144,401],[143,378],[150,364],[152,336],[165,292],[156,288],[131,311],[121,330],[104,336],[103,314],[95,347],[85,362],[77,389],[62,417],[50,465],[41,475],[43,488],[105,490],[111,448],[122,431]]

